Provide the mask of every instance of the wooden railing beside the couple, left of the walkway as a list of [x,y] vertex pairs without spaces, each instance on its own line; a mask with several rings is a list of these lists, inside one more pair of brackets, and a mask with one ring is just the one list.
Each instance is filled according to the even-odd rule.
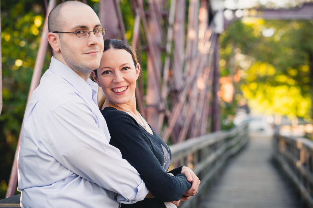
[[179,207],[197,207],[199,198],[205,194],[211,179],[227,159],[239,152],[248,141],[248,124],[244,123],[228,131],[207,134],[170,146],[172,166],[187,165],[201,180],[198,194],[181,202]]

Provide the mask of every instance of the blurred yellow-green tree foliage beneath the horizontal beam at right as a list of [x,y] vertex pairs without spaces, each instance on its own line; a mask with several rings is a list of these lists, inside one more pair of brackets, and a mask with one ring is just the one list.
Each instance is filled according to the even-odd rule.
[[311,118],[313,21],[244,18],[221,37],[222,75],[258,113]]

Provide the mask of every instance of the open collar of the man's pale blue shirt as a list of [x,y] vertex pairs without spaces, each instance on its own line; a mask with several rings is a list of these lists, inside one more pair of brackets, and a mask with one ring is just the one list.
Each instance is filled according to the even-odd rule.
[[74,70],[54,57],[51,57],[49,70],[61,76],[64,80],[69,82],[70,85],[76,88],[80,94],[88,99],[92,98],[95,104],[97,104],[96,95],[98,92],[98,85],[94,81],[90,80],[90,78],[88,78],[87,82],[85,82],[85,80]]

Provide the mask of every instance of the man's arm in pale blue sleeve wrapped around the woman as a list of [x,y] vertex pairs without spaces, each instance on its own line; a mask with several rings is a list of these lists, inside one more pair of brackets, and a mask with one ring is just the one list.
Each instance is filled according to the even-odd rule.
[[44,131],[45,147],[70,171],[120,194],[120,201],[143,200],[148,190],[139,173],[109,144],[96,119],[83,101],[62,104]]

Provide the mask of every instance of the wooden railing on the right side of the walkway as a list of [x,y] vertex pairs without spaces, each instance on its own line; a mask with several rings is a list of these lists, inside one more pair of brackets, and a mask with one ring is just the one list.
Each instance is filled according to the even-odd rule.
[[308,207],[313,207],[313,141],[282,136],[276,131],[273,157],[300,192]]

